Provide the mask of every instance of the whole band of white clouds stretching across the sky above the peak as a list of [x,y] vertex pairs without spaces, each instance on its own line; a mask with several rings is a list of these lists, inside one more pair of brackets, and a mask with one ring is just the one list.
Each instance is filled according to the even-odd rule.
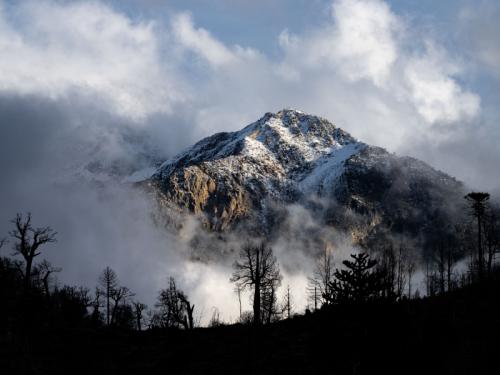
[[[1,90],[54,99],[77,92],[140,121],[175,106],[177,113],[194,112],[197,136],[296,106],[360,129],[356,135],[368,142],[392,128],[398,135],[381,145],[395,149],[410,132],[396,130],[401,114],[429,127],[474,118],[480,109],[446,54],[438,59],[409,45],[416,39],[401,37],[408,25],[380,0],[334,1],[328,23],[302,35],[284,30],[278,40],[284,56],[273,60],[224,44],[187,13],[173,15],[163,29],[99,2],[30,1],[16,13],[13,20],[0,11]],[[192,64],[193,56],[208,65]],[[358,99],[347,103],[340,97],[346,95]],[[382,107],[370,103],[382,102],[391,104],[379,125]],[[367,119],[370,129],[361,125]]]

